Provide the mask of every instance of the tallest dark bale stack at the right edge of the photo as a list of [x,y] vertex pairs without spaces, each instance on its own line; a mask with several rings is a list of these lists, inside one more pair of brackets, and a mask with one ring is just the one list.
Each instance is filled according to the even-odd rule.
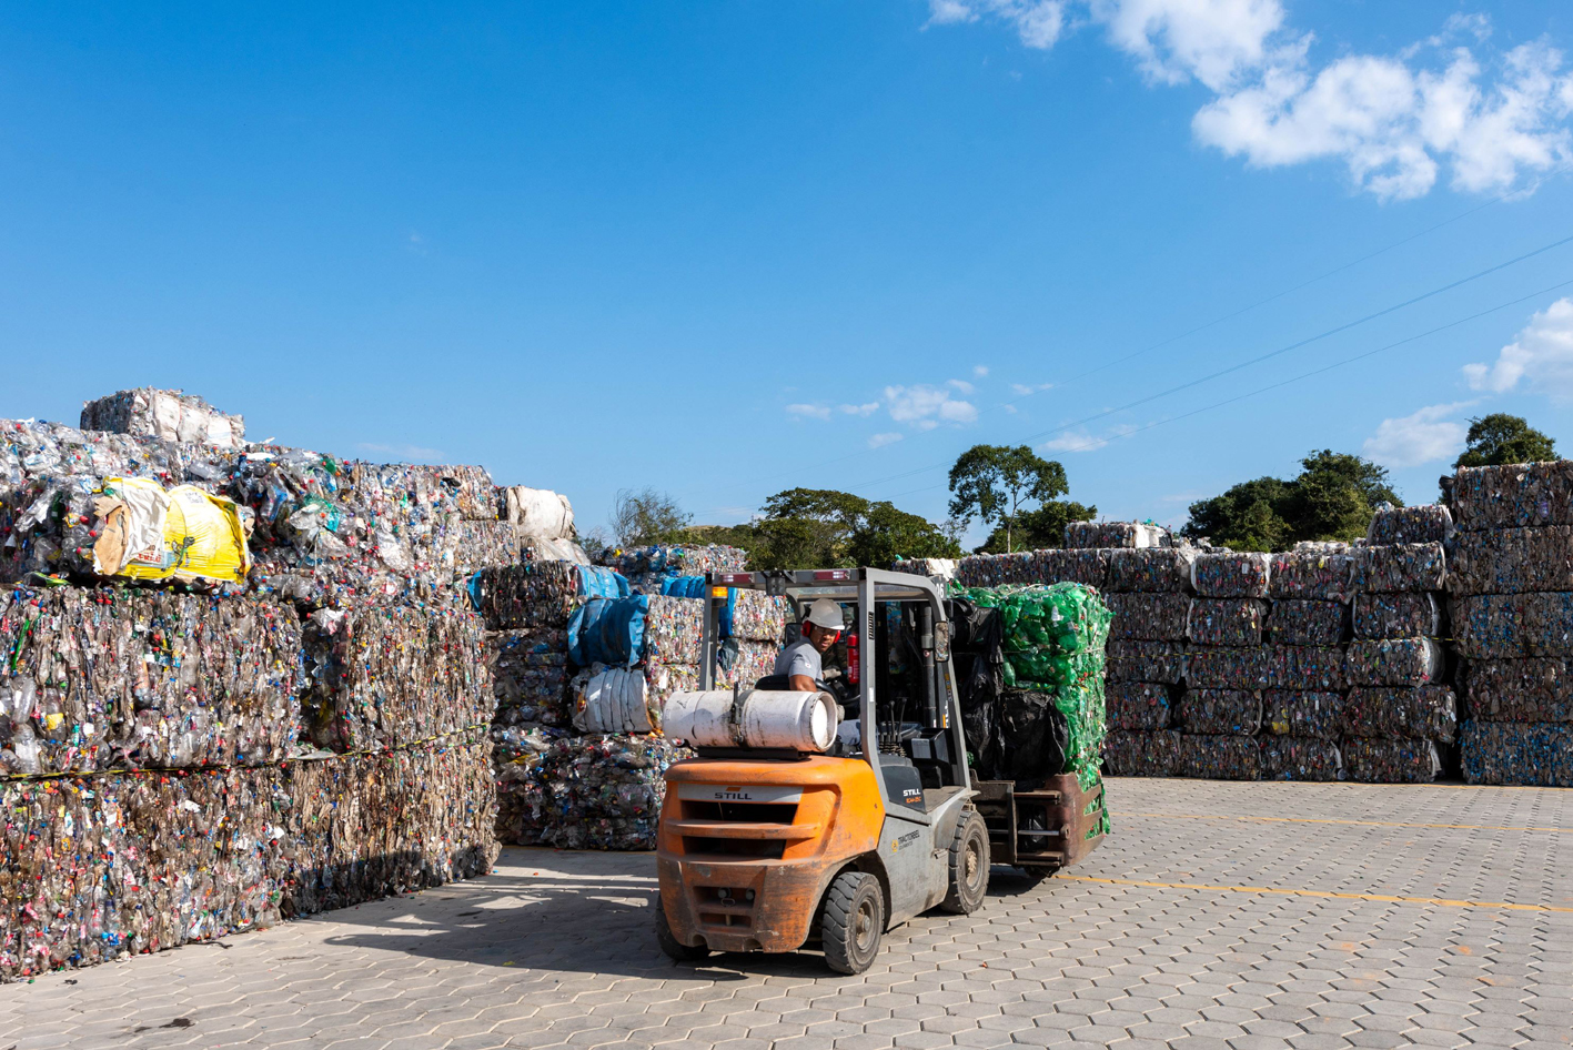
[[1460,468],[1453,509],[1464,778],[1573,786],[1573,462]]

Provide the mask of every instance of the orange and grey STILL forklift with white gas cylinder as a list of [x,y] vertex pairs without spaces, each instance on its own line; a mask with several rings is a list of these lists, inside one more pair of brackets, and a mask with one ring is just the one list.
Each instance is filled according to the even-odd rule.
[[709,574],[700,692],[714,688],[728,588],[785,596],[799,618],[823,597],[851,613],[845,670],[826,671],[843,723],[829,753],[711,747],[667,770],[661,948],[698,960],[813,943],[832,970],[862,973],[887,929],[933,907],[974,912],[988,893],[944,593],[879,569]]

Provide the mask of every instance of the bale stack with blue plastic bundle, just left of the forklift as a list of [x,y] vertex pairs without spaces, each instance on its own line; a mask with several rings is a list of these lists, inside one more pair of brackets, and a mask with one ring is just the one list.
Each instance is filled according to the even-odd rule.
[[[647,567],[639,580],[650,591],[635,593],[610,567],[530,561],[472,582],[497,668],[503,841],[653,847],[662,773],[686,754],[661,736],[661,714],[673,692],[698,687],[703,600],[684,596],[702,593],[695,577],[673,586],[680,577]],[[772,670],[786,607],[733,589],[728,611],[716,677],[752,685]]]

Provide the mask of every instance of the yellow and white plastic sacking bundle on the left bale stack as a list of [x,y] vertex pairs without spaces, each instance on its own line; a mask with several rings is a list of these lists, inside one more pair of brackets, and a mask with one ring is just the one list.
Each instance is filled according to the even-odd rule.
[[[102,525],[93,567],[102,575],[236,583],[252,567],[241,509],[197,486],[165,494],[145,478],[105,478],[96,509]],[[153,533],[160,514],[162,528]],[[153,534],[159,539],[148,542]]]

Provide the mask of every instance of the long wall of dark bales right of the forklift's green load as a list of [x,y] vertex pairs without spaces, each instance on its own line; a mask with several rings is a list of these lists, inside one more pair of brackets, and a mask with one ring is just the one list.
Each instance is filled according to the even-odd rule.
[[963,558],[956,578],[1106,589],[1114,773],[1431,780],[1455,725],[1444,522],[1439,508],[1384,511],[1369,541],[1276,555],[1081,523],[1066,549]]

